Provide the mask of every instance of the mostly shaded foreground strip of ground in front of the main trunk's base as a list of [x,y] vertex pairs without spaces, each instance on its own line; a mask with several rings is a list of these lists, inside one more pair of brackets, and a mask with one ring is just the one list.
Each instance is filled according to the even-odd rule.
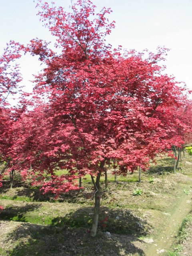
[[[10,225],[11,231],[7,228]],[[6,246],[3,255],[144,255],[140,249],[144,242],[138,238],[116,234],[108,238],[103,232],[98,232],[96,238],[91,238],[85,228],[58,228],[21,222],[10,224],[3,221],[0,233],[3,244],[10,245],[11,241],[14,245],[14,249]]]

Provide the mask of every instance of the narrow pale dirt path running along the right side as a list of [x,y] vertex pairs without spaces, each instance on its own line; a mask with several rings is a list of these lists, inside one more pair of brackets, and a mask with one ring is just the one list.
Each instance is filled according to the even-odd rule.
[[178,228],[180,228],[183,219],[192,209],[192,198],[190,195],[184,195],[180,198],[173,214],[169,218],[166,230],[146,250],[146,256],[164,256],[176,240]]

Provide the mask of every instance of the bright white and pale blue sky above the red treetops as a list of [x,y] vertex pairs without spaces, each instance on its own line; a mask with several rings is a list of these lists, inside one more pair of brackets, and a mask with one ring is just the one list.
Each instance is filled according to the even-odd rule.
[[[191,0],[92,0],[98,8],[110,7],[116,28],[107,42],[117,47],[154,51],[166,46],[167,73],[192,89],[192,1]],[[46,2],[52,2],[46,0]],[[54,0],[68,9],[70,0]],[[27,43],[32,38],[47,41],[52,36],[36,16],[33,0],[0,0],[0,54],[10,39]],[[40,70],[38,60],[26,56],[21,62],[26,91],[32,91],[32,74]]]

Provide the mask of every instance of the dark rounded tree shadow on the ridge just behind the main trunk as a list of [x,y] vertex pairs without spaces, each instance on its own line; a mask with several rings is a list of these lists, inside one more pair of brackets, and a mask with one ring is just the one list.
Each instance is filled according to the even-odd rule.
[[[74,227],[85,227],[90,229],[92,226],[93,207],[85,207],[66,214],[64,217],[52,219],[52,225]],[[146,236],[151,232],[151,226],[142,218],[136,216],[133,211],[128,209],[114,209],[108,207],[100,208],[100,218],[98,230],[111,232],[114,234],[124,234],[129,236]]]

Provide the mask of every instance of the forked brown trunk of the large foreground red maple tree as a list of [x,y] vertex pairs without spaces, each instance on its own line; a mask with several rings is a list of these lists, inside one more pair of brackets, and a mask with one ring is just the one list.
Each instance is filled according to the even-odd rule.
[[95,188],[95,207],[94,207],[94,215],[93,215],[93,223],[92,228],[90,230],[91,236],[96,236],[97,227],[98,227],[98,220],[99,220],[99,209],[100,209],[100,177],[101,177],[101,169],[104,168],[106,160],[104,160],[100,164],[100,172],[97,174],[96,182],[94,181],[94,177],[91,176],[92,182]]

